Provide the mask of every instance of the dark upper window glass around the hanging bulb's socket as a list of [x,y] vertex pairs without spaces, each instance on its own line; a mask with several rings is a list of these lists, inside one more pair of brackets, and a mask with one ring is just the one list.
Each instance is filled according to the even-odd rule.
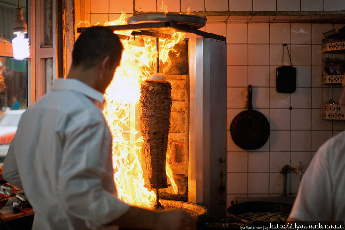
[[[12,42],[14,35],[12,25],[14,22],[14,9],[18,7],[18,0],[0,0],[0,42]],[[20,1],[23,9],[23,20],[26,20],[26,1]]]

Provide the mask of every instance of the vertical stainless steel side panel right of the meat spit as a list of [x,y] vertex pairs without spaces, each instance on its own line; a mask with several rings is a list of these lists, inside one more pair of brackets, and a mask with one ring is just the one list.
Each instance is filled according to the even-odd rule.
[[189,201],[226,215],[226,43],[189,40]]

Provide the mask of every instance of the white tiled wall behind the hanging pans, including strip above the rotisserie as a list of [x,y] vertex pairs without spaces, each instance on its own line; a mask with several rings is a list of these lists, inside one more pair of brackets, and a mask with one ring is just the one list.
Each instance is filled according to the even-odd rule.
[[[85,1],[86,2],[86,1]],[[114,20],[119,13],[162,12],[160,0],[89,0],[86,13],[91,23]],[[134,5],[133,5],[134,3]],[[344,10],[344,0],[171,0],[173,12],[190,11],[333,11]],[[278,20],[310,20],[312,16],[276,16]],[[344,25],[310,23],[259,23],[270,16],[208,16],[202,30],[227,39],[227,204],[240,196],[279,196],[283,190],[281,168],[297,161],[308,165],[320,145],[345,130],[343,121],[320,119],[322,33]],[[249,19],[257,23],[246,23]],[[227,23],[224,23],[224,22]],[[276,92],[276,68],[282,65],[282,45],[288,44],[297,69],[297,89],[291,94]],[[289,65],[284,51],[284,64]],[[248,84],[253,85],[254,108],[270,121],[268,142],[255,151],[234,144],[229,131],[232,119],[243,111]],[[305,167],[306,169],[306,167]],[[298,176],[288,175],[287,189],[297,193]]]

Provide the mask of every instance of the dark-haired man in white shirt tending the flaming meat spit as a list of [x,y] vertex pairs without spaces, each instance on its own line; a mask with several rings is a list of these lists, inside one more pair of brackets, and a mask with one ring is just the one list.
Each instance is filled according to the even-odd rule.
[[56,80],[21,117],[3,177],[23,188],[35,211],[34,230],[195,228],[184,211],[146,210],[116,196],[112,137],[100,107],[122,49],[108,28],[85,30],[67,79]]

